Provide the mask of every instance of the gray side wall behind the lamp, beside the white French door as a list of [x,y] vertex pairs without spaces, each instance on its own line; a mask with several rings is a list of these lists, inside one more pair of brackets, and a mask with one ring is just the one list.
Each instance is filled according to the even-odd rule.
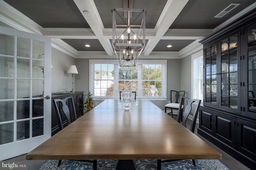
[[[70,65],[76,64],[75,62],[74,57],[52,48],[52,93],[60,92],[61,89],[72,90],[72,76],[67,71]],[[79,70],[78,73],[80,73]],[[76,86],[76,76],[74,74],[74,88]]]

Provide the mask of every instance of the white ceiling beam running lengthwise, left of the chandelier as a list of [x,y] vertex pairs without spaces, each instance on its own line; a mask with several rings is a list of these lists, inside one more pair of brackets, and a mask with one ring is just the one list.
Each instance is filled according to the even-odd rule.
[[[102,47],[106,51],[108,55],[113,55],[113,49],[108,39],[104,39],[103,37],[103,30],[104,25],[98,13],[98,10],[94,4],[93,0],[74,0],[76,6],[84,16],[87,23],[90,25],[90,28],[96,35],[99,37],[98,40],[100,41]],[[84,11],[88,11],[90,14],[84,14]]]

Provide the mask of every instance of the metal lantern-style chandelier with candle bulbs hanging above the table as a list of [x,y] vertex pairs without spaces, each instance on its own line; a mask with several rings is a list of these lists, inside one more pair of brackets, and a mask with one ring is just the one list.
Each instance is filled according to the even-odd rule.
[[[124,8],[112,9],[112,47],[120,66],[136,66],[138,57],[146,46],[146,10],[132,9],[132,5],[133,1],[130,0],[128,4],[124,3]],[[116,16],[119,16],[117,20]],[[132,16],[136,18],[132,20]],[[141,21],[138,23],[141,25],[134,25],[139,19],[141,19]],[[130,37],[133,37],[133,40],[131,40]],[[125,41],[124,38],[127,38],[127,40]]]

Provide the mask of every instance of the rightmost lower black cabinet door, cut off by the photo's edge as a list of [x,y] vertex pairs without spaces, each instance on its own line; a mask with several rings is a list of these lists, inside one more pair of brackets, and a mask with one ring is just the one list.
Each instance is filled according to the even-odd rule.
[[238,119],[238,149],[256,160],[256,123]]

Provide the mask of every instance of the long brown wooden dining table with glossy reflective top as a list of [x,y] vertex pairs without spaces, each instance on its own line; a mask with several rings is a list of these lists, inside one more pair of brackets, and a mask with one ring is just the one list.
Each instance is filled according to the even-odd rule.
[[[221,159],[221,154],[149,100],[104,100],[26,155],[27,160]],[[123,167],[124,166],[124,167]],[[134,167],[134,168],[133,168]]]

